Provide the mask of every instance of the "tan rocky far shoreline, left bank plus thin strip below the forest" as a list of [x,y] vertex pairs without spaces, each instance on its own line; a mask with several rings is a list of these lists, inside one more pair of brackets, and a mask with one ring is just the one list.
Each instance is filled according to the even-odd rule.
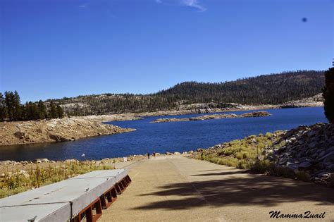
[[[310,105],[310,104],[309,104]],[[314,103],[318,107],[318,103]],[[305,106],[303,106],[305,107]],[[290,108],[290,107],[289,107]],[[302,107],[296,107],[302,108]],[[40,121],[18,121],[0,123],[0,149],[16,144],[38,144],[45,142],[75,141],[85,137],[113,135],[132,132],[135,129],[120,128],[106,122],[134,121],[149,116],[182,116],[199,113],[225,113],[230,111],[255,111],[264,109],[283,109],[280,105],[243,106],[225,109],[189,109],[156,111],[148,113],[122,113],[101,116],[73,116],[62,119]],[[114,123],[117,124],[117,123]]]

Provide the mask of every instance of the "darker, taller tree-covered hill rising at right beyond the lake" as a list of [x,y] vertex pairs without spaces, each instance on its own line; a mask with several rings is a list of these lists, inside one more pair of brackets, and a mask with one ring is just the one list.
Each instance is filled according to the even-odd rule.
[[285,101],[314,96],[321,92],[322,71],[297,71],[260,75],[232,82],[183,82],[159,92],[190,103],[222,101],[239,104],[282,104]]

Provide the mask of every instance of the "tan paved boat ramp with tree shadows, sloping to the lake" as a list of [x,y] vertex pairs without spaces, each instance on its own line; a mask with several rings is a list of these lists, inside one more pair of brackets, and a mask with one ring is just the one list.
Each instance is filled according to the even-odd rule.
[[132,183],[99,221],[270,221],[270,211],[326,211],[324,219],[307,221],[334,221],[334,190],[321,185],[182,156],[156,157],[127,168]]

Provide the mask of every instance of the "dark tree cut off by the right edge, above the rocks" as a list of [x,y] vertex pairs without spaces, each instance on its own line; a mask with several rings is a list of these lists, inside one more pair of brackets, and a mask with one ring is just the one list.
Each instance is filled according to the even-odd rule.
[[325,87],[323,87],[323,99],[325,101],[325,116],[330,123],[334,123],[334,68],[325,72]]

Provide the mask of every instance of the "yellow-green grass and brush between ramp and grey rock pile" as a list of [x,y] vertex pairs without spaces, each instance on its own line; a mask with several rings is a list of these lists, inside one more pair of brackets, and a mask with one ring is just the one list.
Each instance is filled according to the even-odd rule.
[[[252,173],[266,173],[278,175],[285,178],[310,181],[311,175],[307,171],[292,170],[286,166],[277,167],[272,161],[266,159],[266,149],[279,149],[285,145],[285,141],[280,140],[281,131],[266,135],[251,135],[242,140],[225,142],[220,148],[204,150],[197,159],[210,161],[216,164],[233,166],[236,168],[249,169]],[[334,177],[328,180],[334,186]]]

